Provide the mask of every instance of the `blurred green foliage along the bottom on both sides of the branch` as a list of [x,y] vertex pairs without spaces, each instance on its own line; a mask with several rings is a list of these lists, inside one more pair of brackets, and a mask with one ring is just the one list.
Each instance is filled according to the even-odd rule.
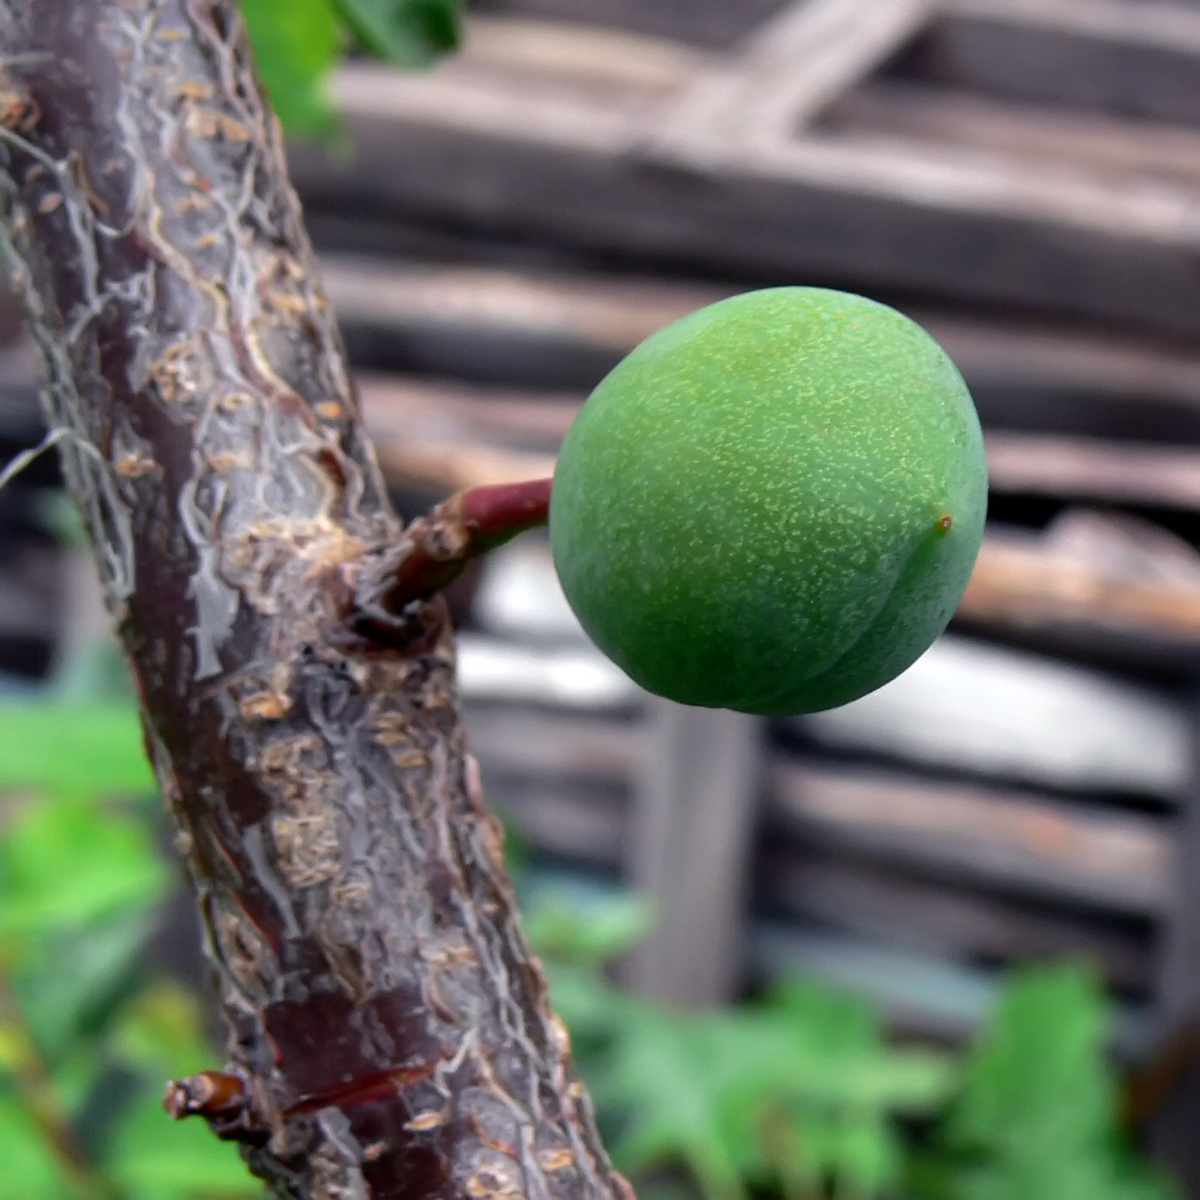
[[[197,997],[148,965],[174,871],[133,706],[112,695],[110,665],[91,678],[91,701],[0,707],[5,1184],[25,1200],[253,1195],[232,1146],[160,1106],[164,1080],[220,1056]],[[672,1181],[703,1200],[1174,1195],[1118,1134],[1109,1013],[1082,967],[1014,974],[976,1046],[952,1055],[890,1045],[868,1004],[810,979],[671,1010],[606,974],[646,932],[646,905],[541,888],[528,911],[643,1195]]]

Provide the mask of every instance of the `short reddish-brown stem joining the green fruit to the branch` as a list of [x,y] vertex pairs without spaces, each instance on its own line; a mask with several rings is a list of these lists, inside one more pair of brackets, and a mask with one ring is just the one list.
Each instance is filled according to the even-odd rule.
[[383,634],[380,625],[398,632],[395,618],[445,588],[473,558],[545,524],[552,482],[528,479],[468,487],[418,517],[403,541],[364,572],[358,588],[360,626],[365,623],[377,637]]

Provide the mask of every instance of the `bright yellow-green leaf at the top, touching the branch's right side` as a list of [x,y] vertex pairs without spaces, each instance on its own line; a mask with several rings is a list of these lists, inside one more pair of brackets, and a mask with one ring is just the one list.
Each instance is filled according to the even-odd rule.
[[258,73],[284,127],[330,138],[337,122],[326,88],[342,52],[330,0],[242,0]]

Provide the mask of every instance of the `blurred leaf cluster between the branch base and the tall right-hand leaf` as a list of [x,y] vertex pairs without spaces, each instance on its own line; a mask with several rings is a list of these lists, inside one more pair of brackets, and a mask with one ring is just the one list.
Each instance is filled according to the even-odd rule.
[[629,900],[572,910],[564,894],[535,901],[527,922],[617,1163],[635,1176],[683,1166],[708,1200],[894,1190],[896,1117],[946,1104],[953,1058],[887,1045],[869,1006],[812,980],[716,1012],[618,991],[596,967],[629,948],[643,917]]

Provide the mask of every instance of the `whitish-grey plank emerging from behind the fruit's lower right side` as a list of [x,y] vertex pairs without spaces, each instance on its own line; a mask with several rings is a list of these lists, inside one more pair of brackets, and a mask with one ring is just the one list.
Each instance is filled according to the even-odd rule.
[[1188,719],[1169,694],[958,636],[877,691],[788,724],[841,752],[1084,794],[1177,803],[1190,778]]

